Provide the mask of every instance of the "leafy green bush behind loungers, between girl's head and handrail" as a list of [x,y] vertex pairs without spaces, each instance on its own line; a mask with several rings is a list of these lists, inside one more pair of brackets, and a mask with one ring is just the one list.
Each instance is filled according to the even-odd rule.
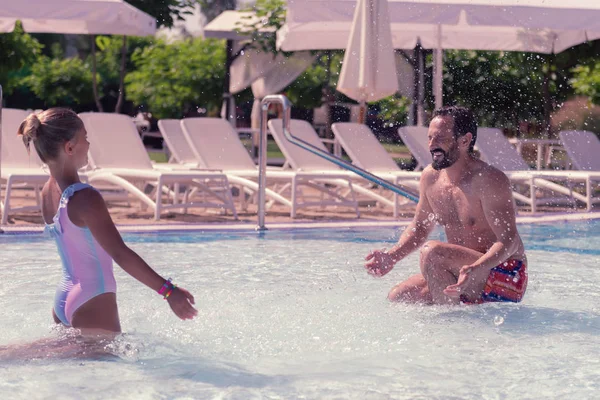
[[217,109],[225,77],[222,41],[158,40],[132,56],[135,71],[126,76],[128,97],[157,118],[181,118],[197,109]]

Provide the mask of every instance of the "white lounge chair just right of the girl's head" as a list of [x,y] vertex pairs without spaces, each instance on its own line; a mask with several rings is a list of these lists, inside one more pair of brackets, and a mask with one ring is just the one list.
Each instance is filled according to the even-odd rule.
[[[162,210],[217,208],[230,210],[237,219],[227,176],[218,171],[159,170],[154,168],[138,131],[130,117],[108,113],[82,113],[90,141],[90,182],[108,182],[125,189],[154,211],[155,219]],[[144,189],[151,185],[155,199]],[[180,188],[186,186],[179,202]],[[193,201],[196,191],[208,197]],[[163,194],[171,197],[163,202]]]

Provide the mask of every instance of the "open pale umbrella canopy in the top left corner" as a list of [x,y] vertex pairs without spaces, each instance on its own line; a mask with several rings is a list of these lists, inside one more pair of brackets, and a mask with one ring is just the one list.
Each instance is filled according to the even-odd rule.
[[156,20],[123,0],[0,0],[0,32],[153,35]]

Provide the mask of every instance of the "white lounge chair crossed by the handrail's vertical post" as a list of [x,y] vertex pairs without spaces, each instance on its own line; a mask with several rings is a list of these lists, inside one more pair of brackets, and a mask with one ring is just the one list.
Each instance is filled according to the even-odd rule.
[[[258,189],[258,184],[254,182],[258,179],[258,167],[240,141],[237,132],[226,120],[186,118],[181,121],[181,128],[196,160],[201,165],[222,169],[234,184],[253,191]],[[319,173],[268,169],[269,184],[276,183],[283,186],[268,190],[267,196],[273,201],[289,206],[292,218],[296,217],[298,209],[315,206],[348,206],[352,207],[359,216],[356,200],[348,199],[329,188],[326,183],[331,183],[330,179],[332,178]],[[303,190],[307,187],[317,189],[321,196],[308,195]],[[282,193],[288,191],[291,193],[286,198]]]

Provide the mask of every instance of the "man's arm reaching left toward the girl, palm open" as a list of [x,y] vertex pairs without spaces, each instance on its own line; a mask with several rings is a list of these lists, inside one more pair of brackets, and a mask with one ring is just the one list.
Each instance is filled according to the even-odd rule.
[[435,224],[435,218],[430,217],[433,216],[433,209],[425,195],[427,187],[431,184],[429,168],[423,171],[421,175],[419,182],[421,196],[419,197],[412,222],[402,232],[398,243],[390,250],[375,250],[367,255],[365,258],[367,260],[365,268],[369,274],[374,276],[387,274],[394,268],[394,264],[421,247],[427,240],[429,233],[431,233]]

